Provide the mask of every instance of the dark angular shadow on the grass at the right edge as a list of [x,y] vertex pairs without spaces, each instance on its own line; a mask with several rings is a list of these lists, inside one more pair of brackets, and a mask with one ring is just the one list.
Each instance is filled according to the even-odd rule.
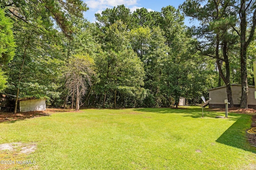
[[256,153],[256,148],[250,146],[246,137],[246,130],[250,129],[250,119],[250,115],[242,115],[216,142]]

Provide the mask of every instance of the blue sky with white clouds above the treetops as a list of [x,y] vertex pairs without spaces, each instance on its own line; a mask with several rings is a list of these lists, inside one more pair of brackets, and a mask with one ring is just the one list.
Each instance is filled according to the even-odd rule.
[[[95,22],[95,13],[101,13],[106,10],[106,8],[113,8],[114,6],[122,5],[130,8],[133,12],[137,8],[146,8],[148,11],[158,11],[160,12],[162,7],[168,5],[178,8],[185,0],[84,0],[84,2],[89,7],[89,10],[84,13],[84,17],[90,22]],[[193,25],[190,23],[188,18],[185,19],[185,24],[188,26]]]

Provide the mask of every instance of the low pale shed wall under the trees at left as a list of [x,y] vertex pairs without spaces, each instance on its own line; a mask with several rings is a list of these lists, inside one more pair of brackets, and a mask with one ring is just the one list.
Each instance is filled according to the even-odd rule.
[[20,112],[46,110],[45,99],[32,99],[20,101]]

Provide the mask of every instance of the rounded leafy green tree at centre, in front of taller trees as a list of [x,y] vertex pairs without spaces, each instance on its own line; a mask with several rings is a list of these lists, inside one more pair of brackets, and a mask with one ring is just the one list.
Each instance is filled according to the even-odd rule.
[[[138,59],[136,53],[132,49],[123,49],[122,51],[109,51],[108,54],[99,55],[96,58],[96,66],[98,67],[99,84],[104,90],[113,95],[116,90],[120,100],[120,105],[126,105],[125,100],[141,99],[140,86],[144,85],[144,69],[142,62]],[[97,87],[96,87],[97,88]],[[99,88],[99,87],[98,87]],[[113,91],[114,90],[114,91]],[[142,90],[143,91],[143,90]]]

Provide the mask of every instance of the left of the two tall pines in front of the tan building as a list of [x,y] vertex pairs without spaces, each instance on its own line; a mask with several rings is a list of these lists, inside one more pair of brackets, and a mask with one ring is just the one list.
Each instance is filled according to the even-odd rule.
[[[238,36],[234,31],[237,15],[232,7],[234,1],[212,1],[202,2],[201,0],[187,0],[180,6],[186,16],[191,16],[200,21],[200,26],[194,29],[193,34],[198,38],[195,50],[200,55],[216,60],[216,71],[218,68],[218,86],[221,80],[227,88],[227,98],[230,107],[233,107],[231,91],[231,62],[238,53],[236,44]],[[191,8],[190,8],[191,7]],[[234,74],[233,74],[234,75]]]

